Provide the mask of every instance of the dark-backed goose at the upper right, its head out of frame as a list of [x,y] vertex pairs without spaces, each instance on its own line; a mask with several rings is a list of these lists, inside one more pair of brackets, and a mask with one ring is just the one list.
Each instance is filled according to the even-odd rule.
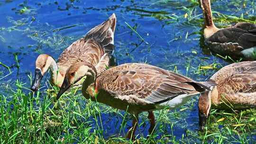
[[242,22],[219,29],[212,21],[210,0],[200,2],[205,18],[204,37],[210,49],[236,58],[256,59],[256,25]]

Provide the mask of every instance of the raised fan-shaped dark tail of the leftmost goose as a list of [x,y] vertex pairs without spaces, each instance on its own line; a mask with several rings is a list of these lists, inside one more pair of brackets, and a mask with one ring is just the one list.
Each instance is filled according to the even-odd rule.
[[92,39],[98,42],[103,48],[104,52],[113,54],[114,51],[114,33],[116,28],[117,18],[113,13],[109,19],[100,25],[93,27],[84,37],[85,40]]

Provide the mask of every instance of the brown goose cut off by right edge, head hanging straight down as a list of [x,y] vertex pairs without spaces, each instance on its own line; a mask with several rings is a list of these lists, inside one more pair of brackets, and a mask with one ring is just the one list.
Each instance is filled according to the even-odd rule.
[[204,128],[210,108],[245,109],[256,107],[256,61],[232,63],[216,72],[212,91],[199,98],[199,125]]

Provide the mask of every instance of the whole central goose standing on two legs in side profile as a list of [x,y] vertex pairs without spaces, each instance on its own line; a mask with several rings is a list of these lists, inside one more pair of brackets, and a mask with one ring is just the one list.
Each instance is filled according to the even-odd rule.
[[127,110],[136,116],[128,138],[134,138],[140,112],[148,112],[151,134],[155,128],[153,110],[177,108],[208,88],[183,75],[148,64],[125,63],[97,75],[90,63],[75,63],[67,70],[57,99],[82,78],[85,78],[82,94],[86,99]]

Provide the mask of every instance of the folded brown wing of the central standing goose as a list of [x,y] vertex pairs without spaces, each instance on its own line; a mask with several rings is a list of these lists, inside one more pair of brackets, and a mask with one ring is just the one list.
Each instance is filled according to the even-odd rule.
[[147,64],[124,64],[108,71],[97,81],[101,89],[119,97],[133,95],[149,103],[163,103],[201,88],[185,76]]

